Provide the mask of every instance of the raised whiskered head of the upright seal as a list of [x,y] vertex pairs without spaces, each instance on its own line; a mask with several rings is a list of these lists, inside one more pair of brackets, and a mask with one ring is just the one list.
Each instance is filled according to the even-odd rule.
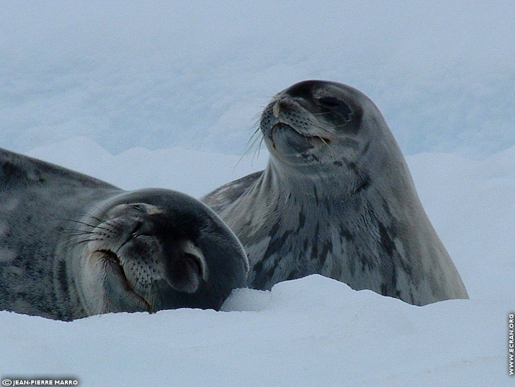
[[[273,159],[302,173],[334,170],[335,158],[343,156],[334,150],[358,145],[354,137],[363,109],[353,103],[354,90],[347,92],[343,98],[338,85],[305,81],[274,97],[260,124]],[[344,160],[352,155],[346,156]]]

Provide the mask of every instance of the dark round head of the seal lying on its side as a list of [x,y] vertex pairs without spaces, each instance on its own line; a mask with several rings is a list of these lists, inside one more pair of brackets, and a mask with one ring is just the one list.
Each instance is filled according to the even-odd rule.
[[[62,290],[76,289],[85,314],[181,307],[218,309],[244,287],[243,247],[197,200],[168,190],[124,193],[100,203],[68,227],[56,272]],[[229,237],[229,238],[228,238]]]

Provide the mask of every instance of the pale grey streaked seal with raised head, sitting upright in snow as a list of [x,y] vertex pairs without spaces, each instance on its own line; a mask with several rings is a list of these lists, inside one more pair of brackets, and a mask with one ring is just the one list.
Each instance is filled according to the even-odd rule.
[[260,130],[266,169],[201,198],[242,241],[250,287],[321,274],[414,305],[468,298],[368,97],[299,82],[273,97]]

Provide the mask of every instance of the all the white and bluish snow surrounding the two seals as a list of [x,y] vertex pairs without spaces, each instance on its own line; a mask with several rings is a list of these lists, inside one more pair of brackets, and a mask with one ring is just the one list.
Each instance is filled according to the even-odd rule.
[[504,386],[515,312],[512,2],[24,2],[0,13],[0,146],[195,197],[263,169],[268,99],[303,79],[385,115],[470,300],[310,276],[224,311],[71,323],[0,312],[0,378],[82,386]]

